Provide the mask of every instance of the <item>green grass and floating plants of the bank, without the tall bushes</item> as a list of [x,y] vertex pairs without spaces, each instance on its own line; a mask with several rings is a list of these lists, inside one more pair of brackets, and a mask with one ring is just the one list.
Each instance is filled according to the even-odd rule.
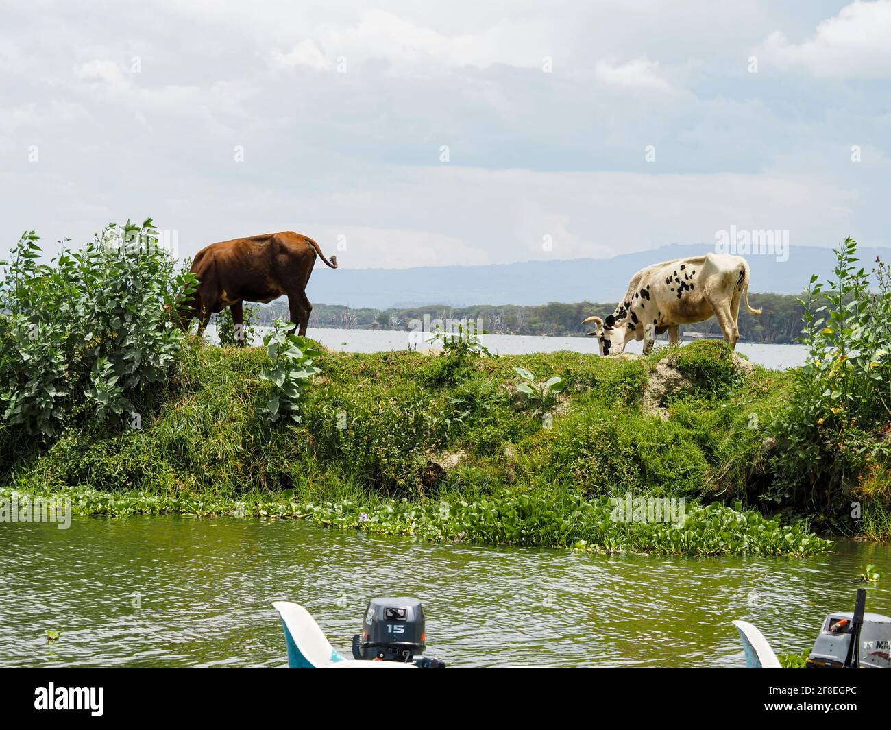
[[[667,420],[640,408],[665,357],[693,383],[667,404]],[[789,373],[756,367],[740,378],[716,342],[628,360],[572,352],[445,360],[324,352],[315,361],[322,373],[301,395],[302,422],[270,424],[260,412],[270,388],[259,376],[263,350],[190,343],[141,430],[86,423],[45,441],[0,430],[0,484],[67,491],[84,514],[219,514],[245,504],[248,514],[353,527],[364,512],[384,531],[445,540],[669,553],[825,549],[803,527],[813,515],[758,499],[773,478],[765,440]],[[541,381],[563,379],[549,414],[517,392],[516,366]],[[683,497],[690,529],[707,526],[678,544],[683,530],[671,525],[604,518],[609,497],[626,492]],[[715,521],[696,506],[734,500],[765,516],[720,507],[727,513]],[[433,516],[444,502],[466,506],[443,523]],[[876,534],[884,514],[870,512]]]

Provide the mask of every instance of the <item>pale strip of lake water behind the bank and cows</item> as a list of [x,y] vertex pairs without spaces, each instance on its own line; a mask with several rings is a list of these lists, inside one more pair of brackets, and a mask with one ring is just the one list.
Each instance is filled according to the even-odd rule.
[[[253,344],[262,343],[265,327],[257,328]],[[383,352],[386,350],[429,348],[429,341],[419,340],[414,332],[395,330],[334,330],[311,327],[307,336],[321,342],[326,348],[344,352]],[[208,337],[216,340],[213,327],[208,327]],[[429,337],[428,337],[429,340]],[[571,350],[599,355],[597,341],[593,337],[535,337],[521,334],[484,334],[479,340],[495,355],[527,355],[531,352],[557,352]],[[686,343],[684,343],[686,344]],[[657,342],[664,347],[665,342]],[[640,353],[642,342],[632,342],[626,352]],[[757,365],[774,370],[803,365],[807,349],[803,345],[762,345],[740,342],[737,350]]]

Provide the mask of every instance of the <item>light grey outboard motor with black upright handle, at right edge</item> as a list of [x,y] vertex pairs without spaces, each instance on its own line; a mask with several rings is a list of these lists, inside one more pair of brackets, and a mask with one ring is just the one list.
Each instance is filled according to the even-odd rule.
[[806,666],[891,668],[891,618],[864,613],[866,591],[857,591],[854,611],[831,613],[823,622]]

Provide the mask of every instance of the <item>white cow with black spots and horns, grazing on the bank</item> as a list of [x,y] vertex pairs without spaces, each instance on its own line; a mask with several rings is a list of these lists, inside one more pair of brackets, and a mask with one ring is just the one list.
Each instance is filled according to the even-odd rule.
[[740,256],[707,253],[705,256],[675,258],[637,272],[628,283],[625,299],[606,319],[589,316],[582,324],[594,323],[601,355],[622,352],[631,340],[643,340],[643,353],[650,353],[656,335],[668,332],[678,340],[678,325],[704,322],[715,316],[724,340],[736,347],[740,339],[737,316],[740,300],[753,315],[760,309],[748,306],[748,262]]

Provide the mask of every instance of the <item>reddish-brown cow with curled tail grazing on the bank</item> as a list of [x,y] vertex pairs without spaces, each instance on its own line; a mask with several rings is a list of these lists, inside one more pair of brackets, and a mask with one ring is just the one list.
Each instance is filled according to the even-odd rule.
[[307,299],[307,282],[316,254],[326,266],[337,268],[336,256],[329,261],[318,243],[293,231],[233,238],[205,246],[192,263],[192,274],[199,284],[195,298],[183,309],[183,326],[198,317],[200,334],[208,326],[210,315],[226,307],[232,309],[234,324],[244,324],[242,301],[267,303],[285,294],[290,321],[298,325],[299,334],[305,335],[313,311]]

